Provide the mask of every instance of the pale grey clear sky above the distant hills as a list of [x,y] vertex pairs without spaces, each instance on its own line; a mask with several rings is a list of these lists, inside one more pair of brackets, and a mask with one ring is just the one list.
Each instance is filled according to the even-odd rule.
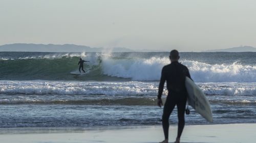
[[256,1],[0,0],[0,45],[134,50],[256,47]]

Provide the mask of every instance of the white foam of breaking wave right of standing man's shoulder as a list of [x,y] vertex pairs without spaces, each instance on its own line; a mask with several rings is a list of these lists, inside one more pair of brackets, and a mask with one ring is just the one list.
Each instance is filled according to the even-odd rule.
[[209,65],[184,61],[196,82],[256,82],[256,66],[233,64]]

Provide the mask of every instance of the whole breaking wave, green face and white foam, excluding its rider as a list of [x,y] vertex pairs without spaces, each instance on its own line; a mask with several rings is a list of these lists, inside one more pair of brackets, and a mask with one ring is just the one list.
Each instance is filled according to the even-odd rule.
[[[37,53],[39,54],[39,53]],[[84,65],[89,74],[71,75],[78,71],[78,59],[90,61]],[[181,60],[196,82],[256,82],[256,66],[240,62],[207,64]],[[114,56],[111,53],[55,53],[26,55],[0,60],[0,80],[159,80],[162,67],[169,64],[167,57],[149,58]]]

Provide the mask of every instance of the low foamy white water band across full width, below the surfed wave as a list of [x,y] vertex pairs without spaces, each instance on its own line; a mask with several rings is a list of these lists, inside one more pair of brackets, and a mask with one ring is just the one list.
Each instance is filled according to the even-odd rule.
[[[206,95],[256,96],[256,83],[209,82],[197,83]],[[97,81],[5,81],[0,83],[0,94],[27,95],[111,95],[153,96],[159,82],[97,82]],[[167,91],[164,91],[167,95]]]

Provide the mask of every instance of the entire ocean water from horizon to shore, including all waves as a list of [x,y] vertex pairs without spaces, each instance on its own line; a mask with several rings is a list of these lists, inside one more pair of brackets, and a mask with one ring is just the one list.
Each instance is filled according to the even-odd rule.
[[[0,128],[161,125],[156,99],[168,54],[0,52]],[[189,107],[187,125],[256,123],[256,52],[180,56],[214,116],[207,123]],[[80,57],[89,72],[70,74]]]

